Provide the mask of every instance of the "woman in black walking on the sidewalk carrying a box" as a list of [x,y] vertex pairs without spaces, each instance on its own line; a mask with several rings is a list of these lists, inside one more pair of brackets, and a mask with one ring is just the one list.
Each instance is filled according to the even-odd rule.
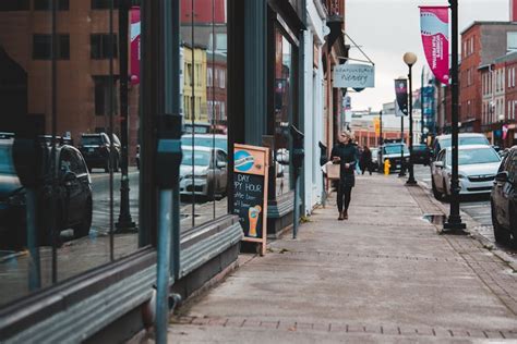
[[339,221],[348,219],[348,206],[350,205],[352,187],[356,185],[353,171],[357,165],[357,149],[351,142],[351,135],[342,132],[339,144],[332,149],[333,163],[339,164],[339,184],[337,187],[337,210]]

